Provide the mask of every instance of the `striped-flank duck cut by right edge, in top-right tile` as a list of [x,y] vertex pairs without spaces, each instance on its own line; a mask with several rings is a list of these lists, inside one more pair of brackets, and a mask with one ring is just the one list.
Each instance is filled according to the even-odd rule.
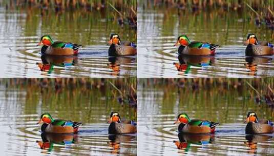
[[245,55],[272,55],[274,54],[274,46],[268,41],[258,42],[257,37],[253,33],[247,34]]

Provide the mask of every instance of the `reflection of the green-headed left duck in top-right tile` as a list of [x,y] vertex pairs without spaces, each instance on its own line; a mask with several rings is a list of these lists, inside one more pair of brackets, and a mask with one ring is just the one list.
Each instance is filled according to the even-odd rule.
[[187,74],[191,70],[191,66],[206,67],[214,63],[215,58],[210,56],[192,56],[178,55],[179,63],[173,63],[178,71],[184,71]]

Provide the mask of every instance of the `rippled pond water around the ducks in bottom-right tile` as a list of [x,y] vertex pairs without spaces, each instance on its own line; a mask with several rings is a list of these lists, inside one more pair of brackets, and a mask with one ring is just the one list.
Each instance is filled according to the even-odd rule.
[[[178,89],[172,85],[138,86],[138,154],[272,155],[274,134],[246,135],[248,111],[273,120],[271,108],[258,105],[248,88]],[[145,86],[145,85],[144,85]],[[154,86],[154,87],[153,87]],[[182,135],[173,123],[179,113],[191,119],[220,122],[215,134]]]

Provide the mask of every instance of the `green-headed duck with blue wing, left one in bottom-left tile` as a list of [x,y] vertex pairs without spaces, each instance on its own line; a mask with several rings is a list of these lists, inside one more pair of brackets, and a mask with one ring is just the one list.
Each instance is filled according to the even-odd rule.
[[41,126],[41,131],[46,133],[77,133],[78,128],[82,123],[77,123],[68,120],[55,120],[49,113],[41,115],[37,124],[44,123]]

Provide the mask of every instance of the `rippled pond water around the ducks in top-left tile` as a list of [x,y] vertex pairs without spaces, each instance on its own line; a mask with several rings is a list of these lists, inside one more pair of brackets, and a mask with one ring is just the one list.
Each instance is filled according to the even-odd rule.
[[[41,15],[43,14],[43,15]],[[136,31],[120,26],[112,11],[55,12],[39,8],[0,7],[1,77],[130,77],[137,73],[137,56],[109,57],[110,34],[136,43]],[[41,58],[42,35],[54,41],[83,45],[77,56]],[[43,71],[37,63],[46,65]]]

